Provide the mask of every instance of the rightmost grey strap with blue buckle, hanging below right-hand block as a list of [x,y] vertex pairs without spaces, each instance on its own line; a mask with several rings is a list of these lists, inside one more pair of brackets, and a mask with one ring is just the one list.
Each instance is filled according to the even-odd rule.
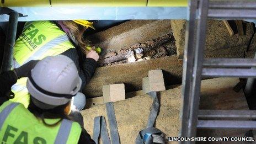
[[151,106],[150,115],[148,116],[147,128],[144,130],[141,130],[138,133],[135,143],[136,144],[165,143],[163,132],[153,127],[154,122],[156,121],[158,111],[159,111],[159,106],[160,106],[157,93],[149,92],[147,94],[150,95],[150,97],[152,97],[154,100]]

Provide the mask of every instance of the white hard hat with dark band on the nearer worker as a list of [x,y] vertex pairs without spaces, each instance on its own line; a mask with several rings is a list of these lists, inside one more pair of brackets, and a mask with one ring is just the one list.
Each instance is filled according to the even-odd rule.
[[58,55],[39,61],[29,74],[26,87],[33,99],[58,106],[70,102],[81,84],[74,62],[67,56]]

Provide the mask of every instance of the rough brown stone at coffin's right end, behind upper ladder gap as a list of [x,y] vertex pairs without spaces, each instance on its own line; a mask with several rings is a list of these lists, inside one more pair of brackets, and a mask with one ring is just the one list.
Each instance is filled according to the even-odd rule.
[[[176,40],[179,58],[184,54],[185,20],[172,20],[172,29]],[[243,23],[245,35],[230,36],[222,20],[208,20],[205,57],[244,57],[249,40],[253,34],[253,25]],[[242,51],[242,52],[241,52]],[[230,53],[231,52],[231,53]]]

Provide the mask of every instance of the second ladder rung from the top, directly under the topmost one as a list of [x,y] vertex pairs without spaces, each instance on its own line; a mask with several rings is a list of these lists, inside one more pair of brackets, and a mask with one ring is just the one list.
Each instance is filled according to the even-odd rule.
[[209,18],[216,19],[254,19],[256,9],[209,9]]

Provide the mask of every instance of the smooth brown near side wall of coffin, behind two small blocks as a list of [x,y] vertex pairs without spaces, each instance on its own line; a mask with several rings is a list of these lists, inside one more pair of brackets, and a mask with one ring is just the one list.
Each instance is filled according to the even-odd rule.
[[115,66],[99,67],[93,78],[83,89],[87,97],[102,96],[102,86],[106,84],[124,83],[127,92],[142,89],[142,78],[148,71],[162,69],[166,86],[182,82],[182,61],[176,56],[161,57],[140,62],[125,63]]

